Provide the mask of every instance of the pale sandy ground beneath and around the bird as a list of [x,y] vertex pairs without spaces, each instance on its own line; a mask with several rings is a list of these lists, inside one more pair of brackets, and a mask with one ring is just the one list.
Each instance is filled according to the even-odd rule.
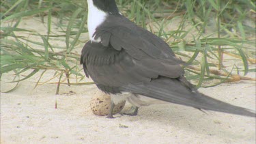
[[[20,25],[30,28],[38,21],[32,18]],[[38,23],[34,28],[45,29],[45,25]],[[255,77],[255,72],[248,76]],[[106,119],[89,108],[95,85],[61,85],[60,94],[55,96],[57,85],[33,89],[37,77],[23,81],[12,93],[1,93],[1,143],[255,143],[252,117],[160,104],[142,107],[134,117],[117,114],[115,119]],[[10,75],[2,78],[2,91],[12,87],[5,81],[10,81]],[[199,91],[255,110],[254,81],[225,83]],[[129,105],[124,111],[127,109]]]

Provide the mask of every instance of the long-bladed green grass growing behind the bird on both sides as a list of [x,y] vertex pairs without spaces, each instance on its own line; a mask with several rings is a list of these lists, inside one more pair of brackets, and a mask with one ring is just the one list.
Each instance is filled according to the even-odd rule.
[[[246,75],[255,71],[249,68],[250,63],[255,63],[256,55],[255,1],[117,0],[117,3],[124,16],[160,36],[177,57],[191,64],[185,68],[186,77],[195,81],[197,87],[232,81],[233,73]],[[87,33],[85,0],[1,1],[0,16],[1,76],[13,72],[12,79],[18,83],[39,73],[40,78],[35,82],[38,85],[46,72],[54,70],[53,78],[58,78],[59,84],[91,84],[83,81],[85,74],[79,66],[80,55],[76,53],[87,42],[81,38]],[[42,34],[20,28],[25,18],[41,18],[47,31]],[[175,21],[180,22],[177,27],[167,29]],[[58,33],[53,27],[59,28]],[[63,40],[63,46],[56,45],[56,40]],[[225,68],[223,53],[240,57],[236,60],[243,63],[243,68]],[[61,81],[63,77],[67,81]],[[75,81],[70,82],[70,77]]]

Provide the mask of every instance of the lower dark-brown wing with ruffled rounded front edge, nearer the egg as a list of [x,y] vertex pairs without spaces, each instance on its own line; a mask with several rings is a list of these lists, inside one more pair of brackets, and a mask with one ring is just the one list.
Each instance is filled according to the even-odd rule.
[[134,59],[124,49],[117,51],[112,46],[90,41],[83,48],[81,63],[85,74],[101,87],[150,83],[158,76],[177,78],[184,72],[178,63],[171,63],[168,59]]

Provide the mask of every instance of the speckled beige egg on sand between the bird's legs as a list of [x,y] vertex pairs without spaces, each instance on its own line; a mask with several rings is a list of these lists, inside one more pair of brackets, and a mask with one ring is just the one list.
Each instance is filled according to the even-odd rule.
[[[119,113],[124,108],[126,101],[115,105],[113,109],[113,115]],[[109,109],[111,106],[111,96],[102,91],[97,91],[91,98],[91,111],[95,115],[109,115]]]

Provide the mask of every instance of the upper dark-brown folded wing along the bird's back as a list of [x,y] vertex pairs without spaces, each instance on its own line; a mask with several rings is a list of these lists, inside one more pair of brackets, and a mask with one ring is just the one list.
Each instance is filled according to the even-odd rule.
[[103,46],[111,45],[115,50],[122,49],[134,59],[166,59],[182,62],[175,58],[173,51],[156,35],[134,25],[124,16],[108,16],[96,29],[95,39],[100,38]]

